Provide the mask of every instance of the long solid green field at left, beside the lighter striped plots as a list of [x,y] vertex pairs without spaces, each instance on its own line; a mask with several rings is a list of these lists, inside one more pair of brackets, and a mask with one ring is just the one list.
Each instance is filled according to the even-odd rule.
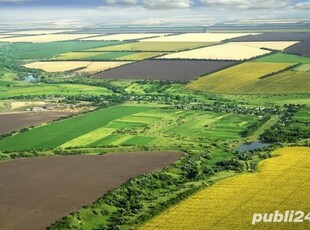
[[0,141],[0,150],[18,151],[55,148],[79,136],[103,127],[115,119],[150,109],[151,108],[148,106],[117,106],[101,109],[96,112],[54,122],[6,138]]

